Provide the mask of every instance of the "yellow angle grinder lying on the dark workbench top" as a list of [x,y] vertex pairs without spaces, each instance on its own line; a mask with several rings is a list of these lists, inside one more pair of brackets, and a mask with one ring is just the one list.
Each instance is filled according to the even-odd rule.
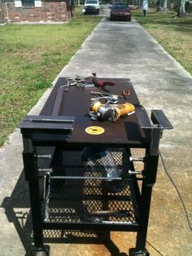
[[119,117],[125,117],[135,112],[133,104],[128,102],[124,104],[102,104],[98,99],[94,99],[90,104],[89,116],[98,121],[116,121]]

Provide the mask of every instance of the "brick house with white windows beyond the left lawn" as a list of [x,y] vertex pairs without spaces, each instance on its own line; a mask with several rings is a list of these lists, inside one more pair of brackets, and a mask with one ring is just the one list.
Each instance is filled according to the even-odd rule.
[[71,17],[71,1],[0,0],[0,23],[65,23]]

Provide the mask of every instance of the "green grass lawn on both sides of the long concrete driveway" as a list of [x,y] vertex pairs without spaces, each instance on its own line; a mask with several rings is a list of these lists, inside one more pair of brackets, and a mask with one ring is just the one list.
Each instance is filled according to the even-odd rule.
[[[76,8],[76,12],[81,12]],[[192,14],[133,10],[133,17],[192,74]],[[68,24],[0,26],[0,146],[102,17],[76,15]]]

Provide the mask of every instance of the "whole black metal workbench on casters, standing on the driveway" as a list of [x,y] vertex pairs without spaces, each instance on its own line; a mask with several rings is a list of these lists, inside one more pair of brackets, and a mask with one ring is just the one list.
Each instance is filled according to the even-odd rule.
[[[102,78],[103,81],[109,80]],[[44,230],[137,232],[136,247],[129,255],[149,255],[146,251],[151,192],[155,183],[159,139],[164,129],[171,129],[164,113],[152,111],[151,120],[139,103],[129,79],[110,79],[116,86],[107,86],[112,94],[129,90],[129,99],[119,99],[119,104],[129,101],[136,111],[130,116],[112,121],[93,121],[89,117],[91,91],[97,87],[79,89],[68,87],[65,78],[59,78],[50,97],[41,109],[40,116],[53,120],[66,117],[73,120],[66,126],[52,126],[42,122],[31,124],[25,117],[20,123],[24,140],[24,172],[29,184],[33,218],[34,254],[49,250],[43,244]],[[71,118],[71,119],[70,119]],[[72,121],[71,120],[71,121]],[[99,126],[101,135],[89,135],[85,129]],[[120,175],[108,180],[103,166],[95,171],[82,161],[86,147],[105,148],[111,152]],[[39,148],[54,148],[50,166],[43,166]],[[144,155],[131,158],[132,148],[144,148]],[[141,161],[143,170],[137,171],[134,160]],[[107,163],[106,163],[107,165]],[[93,167],[93,166],[92,166]],[[142,182],[139,189],[138,181]],[[116,251],[118,255],[118,249]]]

